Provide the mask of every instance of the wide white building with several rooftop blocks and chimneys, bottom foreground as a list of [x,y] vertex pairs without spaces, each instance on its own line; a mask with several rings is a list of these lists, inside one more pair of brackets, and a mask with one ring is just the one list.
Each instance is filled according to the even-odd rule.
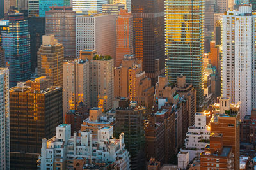
[[[97,138],[91,131],[74,132],[71,136],[70,124],[61,124],[56,128],[56,136],[48,141],[42,139],[38,168],[76,169],[76,161],[82,166],[113,162],[118,169],[130,169],[129,152],[125,149],[124,134],[113,138],[113,127],[100,127]],[[77,168],[78,169],[78,168]]]

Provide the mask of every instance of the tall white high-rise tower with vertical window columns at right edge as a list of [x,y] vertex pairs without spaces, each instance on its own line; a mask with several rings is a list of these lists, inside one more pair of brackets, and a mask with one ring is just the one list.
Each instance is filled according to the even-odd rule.
[[241,101],[241,119],[256,106],[255,16],[251,6],[223,15],[222,95]]

